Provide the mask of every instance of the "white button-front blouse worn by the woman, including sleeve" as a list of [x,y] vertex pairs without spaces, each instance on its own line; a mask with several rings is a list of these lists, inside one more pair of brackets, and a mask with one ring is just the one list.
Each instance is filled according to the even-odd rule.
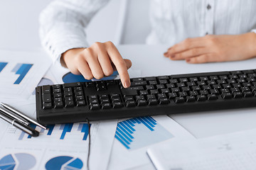
[[[55,0],[40,16],[43,47],[53,60],[88,47],[85,27],[109,0]],[[255,0],[151,0],[147,44],[174,45],[206,34],[256,32]]]

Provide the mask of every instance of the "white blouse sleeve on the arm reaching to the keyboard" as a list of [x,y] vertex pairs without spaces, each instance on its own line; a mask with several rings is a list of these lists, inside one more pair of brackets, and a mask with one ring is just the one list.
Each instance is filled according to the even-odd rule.
[[67,50],[88,47],[85,28],[92,16],[107,2],[108,0],[55,0],[41,12],[41,43],[53,57],[53,61],[59,60]]

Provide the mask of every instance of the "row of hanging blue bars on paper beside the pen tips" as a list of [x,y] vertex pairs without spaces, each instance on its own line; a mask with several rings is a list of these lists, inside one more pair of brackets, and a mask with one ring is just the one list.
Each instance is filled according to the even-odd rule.
[[[31,125],[31,128],[35,129],[36,125]],[[58,140],[66,140],[68,135],[80,135],[80,140],[87,140],[89,133],[89,127],[87,123],[66,123],[61,125],[47,125],[47,130],[41,129],[40,134],[44,136],[54,136]],[[31,139],[31,135],[26,135],[25,132],[21,132],[18,140]]]

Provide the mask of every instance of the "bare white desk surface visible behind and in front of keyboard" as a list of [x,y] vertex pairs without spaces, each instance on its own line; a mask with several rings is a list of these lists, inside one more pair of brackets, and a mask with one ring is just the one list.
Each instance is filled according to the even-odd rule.
[[[171,61],[163,56],[168,47],[166,45],[121,45],[118,49],[122,57],[132,60],[133,69],[142,71],[142,76],[256,69],[256,58],[241,62],[208,64]],[[171,115],[171,118],[174,118],[196,137],[208,137],[256,128],[256,108],[176,114]]]

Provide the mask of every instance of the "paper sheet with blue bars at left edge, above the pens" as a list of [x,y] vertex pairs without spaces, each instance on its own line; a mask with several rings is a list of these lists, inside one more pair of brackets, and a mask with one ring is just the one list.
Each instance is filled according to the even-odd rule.
[[28,99],[50,64],[44,52],[0,50],[1,98]]

